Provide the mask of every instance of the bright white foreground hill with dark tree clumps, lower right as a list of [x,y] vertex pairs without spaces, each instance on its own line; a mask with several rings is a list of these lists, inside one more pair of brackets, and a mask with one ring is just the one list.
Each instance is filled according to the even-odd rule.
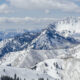
[[35,70],[56,80],[80,80],[80,59],[49,59],[37,64]]

